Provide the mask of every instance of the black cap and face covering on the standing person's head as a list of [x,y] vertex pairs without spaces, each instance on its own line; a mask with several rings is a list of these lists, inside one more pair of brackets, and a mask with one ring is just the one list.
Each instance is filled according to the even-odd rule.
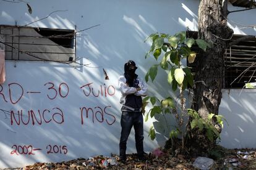
[[138,77],[138,75],[135,74],[136,69],[136,64],[132,60],[124,64],[124,77],[129,87],[134,87],[134,80]]

